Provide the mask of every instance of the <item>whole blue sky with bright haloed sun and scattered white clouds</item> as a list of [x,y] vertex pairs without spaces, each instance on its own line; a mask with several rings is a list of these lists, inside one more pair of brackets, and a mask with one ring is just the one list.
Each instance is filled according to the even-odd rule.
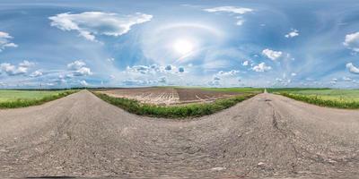
[[170,85],[359,88],[359,1],[0,1],[0,88]]

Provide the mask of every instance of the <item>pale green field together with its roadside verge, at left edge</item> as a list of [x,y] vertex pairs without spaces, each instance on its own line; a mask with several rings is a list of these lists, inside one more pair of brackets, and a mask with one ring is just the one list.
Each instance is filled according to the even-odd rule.
[[79,90],[0,90],[0,108],[18,108],[41,105],[57,98],[66,97],[67,95],[78,91]]

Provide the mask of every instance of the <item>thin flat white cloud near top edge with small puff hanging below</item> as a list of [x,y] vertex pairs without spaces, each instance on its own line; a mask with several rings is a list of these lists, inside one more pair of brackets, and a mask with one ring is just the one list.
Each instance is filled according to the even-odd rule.
[[208,13],[234,13],[239,14],[240,16],[236,16],[237,19],[236,25],[241,26],[243,22],[245,21],[244,18],[241,16],[245,13],[250,13],[253,11],[253,9],[250,8],[244,8],[244,7],[236,7],[236,6],[219,6],[214,8],[208,8],[204,9],[204,11]]

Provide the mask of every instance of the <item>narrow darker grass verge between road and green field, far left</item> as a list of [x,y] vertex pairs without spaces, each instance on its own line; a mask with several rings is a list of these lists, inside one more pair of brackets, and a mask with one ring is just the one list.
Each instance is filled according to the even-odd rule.
[[42,105],[48,101],[55,100],[57,98],[63,98],[67,95],[78,92],[79,90],[66,90],[57,94],[48,95],[43,98],[24,99],[18,98],[15,100],[0,102],[0,108],[18,108],[18,107],[31,107],[36,105]]

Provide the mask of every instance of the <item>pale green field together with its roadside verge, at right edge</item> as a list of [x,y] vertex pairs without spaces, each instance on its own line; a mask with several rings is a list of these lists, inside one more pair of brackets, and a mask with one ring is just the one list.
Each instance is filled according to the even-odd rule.
[[359,108],[359,90],[289,90],[276,94],[293,98],[320,107],[336,107],[346,109]]

